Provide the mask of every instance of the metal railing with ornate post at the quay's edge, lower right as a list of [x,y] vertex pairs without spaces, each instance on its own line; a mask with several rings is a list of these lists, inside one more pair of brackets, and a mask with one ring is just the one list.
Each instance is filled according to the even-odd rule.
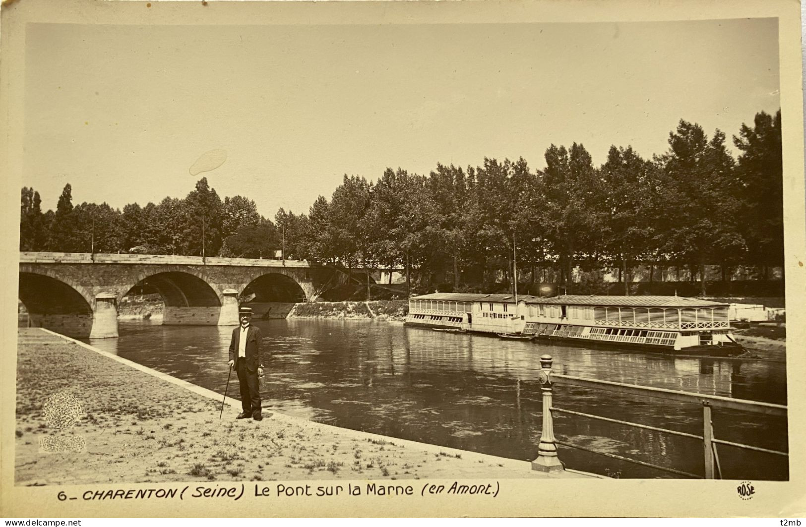
[[[703,461],[705,466],[705,479],[721,479],[722,471],[719,463],[719,454],[717,453],[717,445],[734,446],[746,450],[754,450],[757,452],[764,452],[767,454],[775,454],[780,456],[788,456],[787,452],[780,452],[778,450],[770,450],[761,448],[760,446],[744,445],[742,443],[729,442],[717,439],[713,434],[713,422],[711,421],[711,413],[713,409],[731,409],[742,410],[746,412],[761,413],[773,417],[786,417],[787,407],[783,405],[774,405],[772,403],[762,403],[753,400],[732,399],[730,397],[711,396],[700,393],[680,392],[677,390],[669,390],[666,388],[649,388],[646,386],[638,386],[635,384],[614,383],[606,380],[584,379],[581,377],[566,376],[551,372],[552,359],[550,355],[542,355],[540,358],[540,371],[538,371],[538,380],[540,381],[540,389],[542,392],[542,432],[540,435],[540,443],[538,445],[538,457],[532,462],[532,470],[554,472],[563,471],[563,463],[560,462],[557,453],[557,445],[567,446],[576,450],[584,450],[592,454],[604,455],[611,459],[618,459],[628,463],[642,465],[643,467],[651,467],[659,471],[671,472],[672,474],[683,475],[691,478],[702,478],[703,476],[692,474],[690,472],[679,471],[671,467],[661,467],[653,463],[646,463],[638,459],[629,459],[609,452],[600,452],[585,448],[584,446],[575,445],[569,442],[558,441],[554,433],[554,419],[552,413],[566,413],[579,417],[588,417],[600,421],[608,421],[621,425],[632,426],[639,429],[654,430],[665,434],[682,436],[684,438],[693,438],[702,441],[703,443]],[[567,384],[569,386],[577,386],[580,388],[592,388],[595,390],[607,390],[610,392],[617,392],[624,395],[638,395],[655,397],[663,400],[674,400],[683,403],[692,403],[701,405],[703,410],[703,434],[687,434],[677,430],[663,429],[650,425],[642,425],[629,421],[621,421],[618,419],[611,419],[609,417],[602,417],[590,413],[574,412],[567,409],[555,407],[553,403],[553,389],[555,383]]]

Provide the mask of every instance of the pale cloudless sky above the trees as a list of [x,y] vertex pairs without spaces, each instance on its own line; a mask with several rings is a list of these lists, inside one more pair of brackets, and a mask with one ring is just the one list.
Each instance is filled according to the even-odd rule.
[[[667,151],[683,118],[732,135],[779,109],[776,19],[328,26],[31,24],[23,185],[55,209],[185,197],[202,176],[307,214],[344,174],[550,144]],[[786,118],[786,116],[784,116]],[[193,176],[200,156],[223,163]],[[222,155],[226,152],[226,156]]]

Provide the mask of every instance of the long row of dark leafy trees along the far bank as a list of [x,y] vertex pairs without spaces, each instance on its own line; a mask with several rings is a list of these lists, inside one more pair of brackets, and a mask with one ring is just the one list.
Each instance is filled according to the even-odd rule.
[[533,282],[549,272],[569,293],[575,268],[618,268],[629,294],[631,269],[653,263],[688,268],[704,294],[708,265],[751,266],[762,277],[783,265],[780,110],[742,124],[736,160],[725,143],[724,132],[708,137],[681,120],[652,159],[612,146],[596,167],[582,144],[551,144],[542,170],[485,158],[475,168],[438,164],[427,176],[345,175],[330,200],[318,197],[308,214],[281,208],[273,221],[249,197],[222,200],[206,178],[184,199],[122,211],[73,206],[65,185],[56,211],[43,213],[39,193],[23,187],[20,250],[243,258],[282,250],[348,269],[405,268],[407,284],[455,291],[509,282],[514,252]]

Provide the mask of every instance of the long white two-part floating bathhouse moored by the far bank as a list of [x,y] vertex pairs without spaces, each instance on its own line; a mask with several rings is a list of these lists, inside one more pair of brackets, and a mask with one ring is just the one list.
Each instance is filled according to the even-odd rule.
[[405,324],[681,355],[739,355],[728,309],[676,296],[526,295],[516,301],[506,294],[432,293],[409,299]]

